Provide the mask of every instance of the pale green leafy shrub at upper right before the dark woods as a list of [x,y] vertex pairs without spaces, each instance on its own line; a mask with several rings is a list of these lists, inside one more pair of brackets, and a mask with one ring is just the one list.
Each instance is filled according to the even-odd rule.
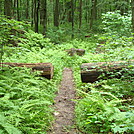
[[112,35],[129,36],[131,34],[131,15],[121,15],[120,11],[102,14],[105,32]]

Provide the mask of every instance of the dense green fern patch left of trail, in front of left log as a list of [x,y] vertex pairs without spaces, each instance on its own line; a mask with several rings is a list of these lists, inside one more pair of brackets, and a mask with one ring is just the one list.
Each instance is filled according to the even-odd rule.
[[0,72],[0,130],[8,134],[45,133],[52,121],[56,87],[29,69],[3,68]]

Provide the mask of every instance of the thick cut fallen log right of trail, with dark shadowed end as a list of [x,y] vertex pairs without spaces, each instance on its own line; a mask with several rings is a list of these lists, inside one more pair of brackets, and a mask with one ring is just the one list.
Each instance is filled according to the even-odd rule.
[[[134,60],[129,62],[116,61],[116,62],[99,62],[99,63],[83,63],[81,65],[81,80],[82,82],[95,82],[99,80],[99,76],[104,73],[107,78],[110,74],[107,72],[116,73],[123,68],[134,68]],[[122,74],[115,76],[120,78]]]

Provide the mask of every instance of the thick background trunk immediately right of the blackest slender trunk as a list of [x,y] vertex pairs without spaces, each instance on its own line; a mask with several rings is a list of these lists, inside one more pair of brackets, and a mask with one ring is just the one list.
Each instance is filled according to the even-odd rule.
[[41,0],[41,24],[43,25],[43,34],[47,31],[47,0]]

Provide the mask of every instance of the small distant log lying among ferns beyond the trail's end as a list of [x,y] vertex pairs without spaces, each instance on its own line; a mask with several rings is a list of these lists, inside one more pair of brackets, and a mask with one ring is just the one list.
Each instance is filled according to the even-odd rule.
[[85,50],[84,49],[71,48],[71,49],[67,49],[65,51],[68,52],[68,54],[70,56],[74,56],[75,54],[79,55],[79,56],[82,56],[82,55],[85,54]]

